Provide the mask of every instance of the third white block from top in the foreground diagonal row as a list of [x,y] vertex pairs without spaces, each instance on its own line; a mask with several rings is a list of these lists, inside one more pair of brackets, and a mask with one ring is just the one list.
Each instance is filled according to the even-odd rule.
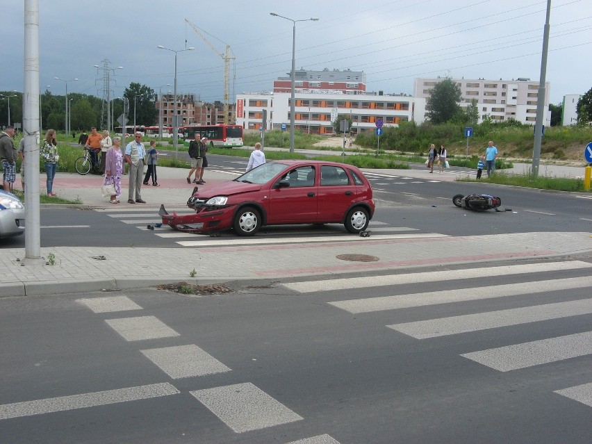
[[213,375],[231,371],[226,365],[197,345],[140,350],[172,379]]

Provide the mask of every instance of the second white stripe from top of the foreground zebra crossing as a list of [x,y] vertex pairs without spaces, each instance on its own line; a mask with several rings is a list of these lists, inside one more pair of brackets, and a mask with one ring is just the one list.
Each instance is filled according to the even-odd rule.
[[429,293],[411,293],[408,295],[393,295],[381,297],[367,297],[345,301],[329,302],[329,304],[349,311],[350,313],[370,313],[410,307],[435,304],[450,304],[452,302],[466,302],[494,297],[508,297],[516,295],[530,295],[538,292],[568,290],[570,288],[586,288],[590,285],[590,277],[575,277],[567,279],[553,279],[549,281],[506,283],[498,286],[484,286],[475,288],[459,288],[454,290],[440,290]]

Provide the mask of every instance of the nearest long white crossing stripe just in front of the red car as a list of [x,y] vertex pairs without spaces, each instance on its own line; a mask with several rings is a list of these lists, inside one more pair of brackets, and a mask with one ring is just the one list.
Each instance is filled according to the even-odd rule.
[[[164,236],[159,234],[158,236]],[[447,235],[440,233],[416,233],[416,234],[377,234],[370,238],[361,238],[360,236],[322,236],[320,238],[251,238],[251,239],[224,239],[215,238],[215,240],[187,240],[176,242],[183,247],[220,247],[222,245],[256,245],[256,244],[286,244],[298,243],[308,244],[315,242],[364,242],[365,240],[390,240],[390,239],[421,239],[421,238],[445,238]]]

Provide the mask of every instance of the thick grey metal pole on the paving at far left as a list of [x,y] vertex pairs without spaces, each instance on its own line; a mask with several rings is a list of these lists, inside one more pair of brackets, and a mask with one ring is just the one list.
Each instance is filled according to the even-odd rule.
[[25,165],[24,265],[42,265],[39,208],[39,0],[24,0],[23,134]]

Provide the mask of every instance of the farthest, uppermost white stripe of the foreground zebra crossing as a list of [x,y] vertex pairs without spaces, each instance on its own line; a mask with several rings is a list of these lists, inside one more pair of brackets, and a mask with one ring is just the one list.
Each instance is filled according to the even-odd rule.
[[504,265],[500,267],[469,268],[463,270],[443,270],[409,274],[388,274],[386,276],[327,279],[324,281],[304,281],[283,283],[283,286],[299,293],[313,291],[345,290],[346,288],[368,288],[397,285],[401,283],[440,282],[455,279],[478,278],[482,276],[509,276],[511,274],[554,272],[592,268],[592,263],[582,261],[530,263],[523,265]]

